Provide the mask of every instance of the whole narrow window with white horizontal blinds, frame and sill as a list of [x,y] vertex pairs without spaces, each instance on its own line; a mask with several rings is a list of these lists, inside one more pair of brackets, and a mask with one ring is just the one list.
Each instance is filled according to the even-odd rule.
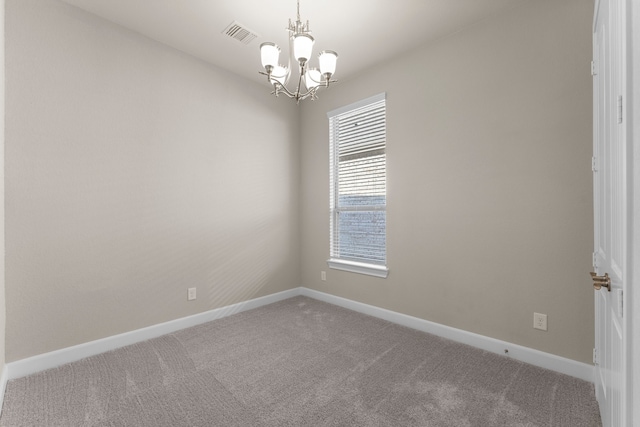
[[387,277],[385,94],[331,111],[330,258],[339,270]]

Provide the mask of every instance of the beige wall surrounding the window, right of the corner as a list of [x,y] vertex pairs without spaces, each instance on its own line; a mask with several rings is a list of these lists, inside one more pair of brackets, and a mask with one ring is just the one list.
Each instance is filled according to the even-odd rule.
[[[527,2],[304,104],[303,285],[590,363],[592,3]],[[386,280],[326,264],[326,112],[384,91]]]

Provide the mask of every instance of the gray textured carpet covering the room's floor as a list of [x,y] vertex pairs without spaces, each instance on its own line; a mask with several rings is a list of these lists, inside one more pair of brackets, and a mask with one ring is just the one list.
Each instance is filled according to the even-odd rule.
[[305,297],[7,384],[2,426],[599,426],[590,383]]

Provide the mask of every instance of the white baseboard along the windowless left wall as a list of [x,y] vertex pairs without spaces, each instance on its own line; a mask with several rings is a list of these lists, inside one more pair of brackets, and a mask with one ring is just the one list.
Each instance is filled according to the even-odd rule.
[[[36,372],[44,371],[46,369],[62,366],[67,363],[84,359],[85,357],[95,356],[100,353],[146,341],[148,339],[156,338],[161,335],[170,334],[181,329],[200,325],[202,323],[210,322],[216,319],[221,319],[223,317],[258,308],[263,305],[272,304],[274,302],[291,298],[296,295],[300,295],[300,288],[289,289],[283,292],[278,292],[226,307],[216,308],[214,310],[194,314],[193,316],[171,320],[169,322],[137,329],[135,331],[126,332],[124,334],[114,335],[96,341],[90,341],[72,347],[67,347],[49,353],[29,357],[27,359],[11,362],[5,366],[2,376],[3,382],[2,384],[0,384],[0,387],[4,387],[8,380],[24,377]],[[2,389],[1,391],[2,394],[0,396],[4,396],[4,389]]]

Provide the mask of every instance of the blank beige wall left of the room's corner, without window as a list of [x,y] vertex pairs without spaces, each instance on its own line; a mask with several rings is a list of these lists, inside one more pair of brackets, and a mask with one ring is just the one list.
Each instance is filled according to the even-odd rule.
[[300,285],[294,103],[58,1],[6,18],[8,362]]

